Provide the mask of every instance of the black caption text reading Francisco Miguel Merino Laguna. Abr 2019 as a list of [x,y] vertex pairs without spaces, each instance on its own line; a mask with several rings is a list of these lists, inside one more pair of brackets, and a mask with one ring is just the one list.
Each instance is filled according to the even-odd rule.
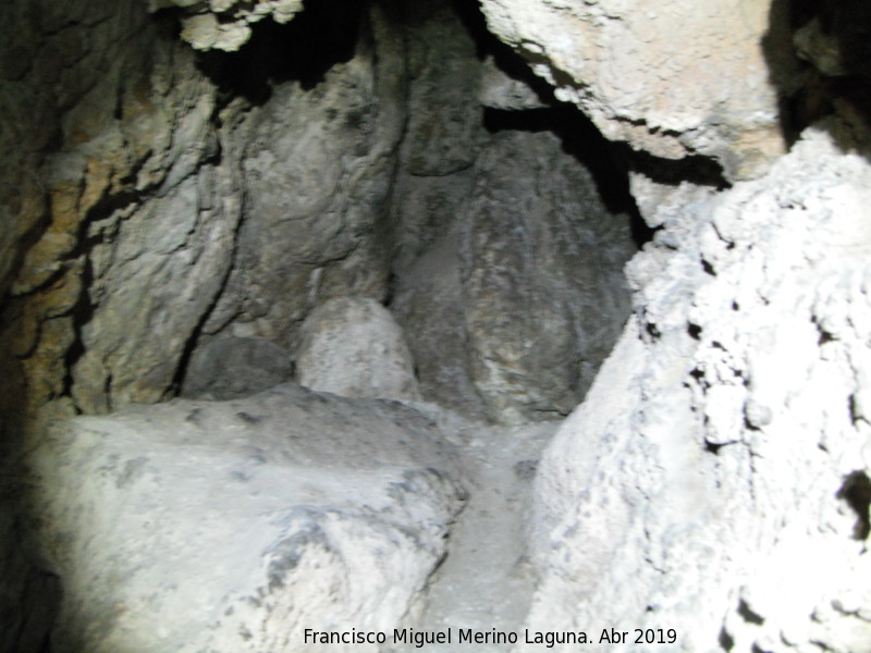
[[513,631],[503,631],[492,628],[490,630],[475,630],[474,628],[447,628],[446,630],[415,630],[414,628],[395,628],[389,637],[380,630],[357,630],[352,628],[345,631],[322,631],[306,628],[304,632],[307,644],[413,644],[422,649],[427,644],[542,644],[552,649],[556,644],[588,644],[588,643],[647,643],[673,644],[677,641],[677,631],[674,628],[648,628],[634,631],[604,628],[598,636],[580,630],[561,631],[523,631],[523,637]]

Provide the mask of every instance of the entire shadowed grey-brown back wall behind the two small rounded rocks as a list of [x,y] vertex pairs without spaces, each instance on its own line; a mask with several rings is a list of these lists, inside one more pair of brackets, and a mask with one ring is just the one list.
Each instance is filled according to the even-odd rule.
[[[547,131],[562,119],[487,128],[479,96],[502,101],[494,77],[525,88],[532,111],[542,103],[450,4],[323,2],[289,25],[258,22],[232,56],[185,49],[177,16],[145,9],[105,9],[97,34],[62,30],[82,48],[112,45],[69,64],[78,96],[62,79],[54,93],[70,97],[44,99],[56,125],[35,131],[56,134],[34,146],[21,205],[40,208],[10,220],[33,222],[4,309],[20,404],[105,412],[168,398],[217,337],[263,338],[292,358],[306,316],[354,295],[394,301],[425,398],[508,421],[572,408],[628,313],[629,218],[612,218],[577,157],[557,153],[566,144]],[[48,94],[37,73],[9,97]],[[520,170],[548,165],[523,186]],[[500,186],[506,175],[516,184]],[[517,201],[531,190],[537,206]],[[484,195],[492,206],[469,206]],[[563,229],[578,242],[551,256]],[[514,243],[496,243],[508,232]],[[416,262],[449,234],[461,280],[439,310],[451,329],[415,285]],[[514,260],[482,281],[495,249]],[[608,262],[591,264],[593,251]],[[495,325],[530,300],[526,323]],[[437,332],[453,334],[446,349]]]

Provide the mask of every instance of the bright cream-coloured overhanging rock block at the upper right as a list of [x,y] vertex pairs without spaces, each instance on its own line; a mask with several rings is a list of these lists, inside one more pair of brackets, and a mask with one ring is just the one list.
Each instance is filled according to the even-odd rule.
[[614,140],[657,157],[716,158],[731,178],[783,153],[769,0],[483,0],[488,26]]

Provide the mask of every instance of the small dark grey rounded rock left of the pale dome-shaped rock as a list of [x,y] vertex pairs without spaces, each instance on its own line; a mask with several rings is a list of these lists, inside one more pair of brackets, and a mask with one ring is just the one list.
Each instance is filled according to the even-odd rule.
[[181,396],[236,399],[293,378],[291,354],[256,337],[221,337],[191,356]]

